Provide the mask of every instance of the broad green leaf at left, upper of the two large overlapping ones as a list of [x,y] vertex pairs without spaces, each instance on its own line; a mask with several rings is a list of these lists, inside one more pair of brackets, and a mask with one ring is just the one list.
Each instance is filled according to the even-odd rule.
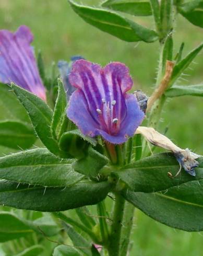
[[46,187],[67,187],[82,177],[73,171],[70,161],[54,156],[46,148],[0,158],[0,179]]

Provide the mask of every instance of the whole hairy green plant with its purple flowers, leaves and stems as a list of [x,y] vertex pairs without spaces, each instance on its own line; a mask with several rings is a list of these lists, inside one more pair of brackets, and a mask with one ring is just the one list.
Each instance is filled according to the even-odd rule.
[[[11,112],[0,122],[0,145],[16,150],[0,158],[0,204],[19,210],[0,212],[0,241],[10,240],[4,250],[17,245],[15,254],[40,255],[48,239],[55,256],[125,256],[135,207],[170,227],[203,230],[203,158],[157,131],[167,98],[203,96],[202,85],[176,84],[203,44],[185,57],[183,44],[173,54],[175,17],[202,27],[202,1],[107,0],[99,8],[69,3],[117,38],[158,40],[156,87],[150,97],[139,88],[130,93],[133,79],[124,64],[101,67],[81,56],[58,62],[58,74],[49,78],[41,54],[35,59],[28,27],[0,30],[1,101]],[[155,29],[118,11],[153,16]],[[152,154],[149,143],[166,152]]]

